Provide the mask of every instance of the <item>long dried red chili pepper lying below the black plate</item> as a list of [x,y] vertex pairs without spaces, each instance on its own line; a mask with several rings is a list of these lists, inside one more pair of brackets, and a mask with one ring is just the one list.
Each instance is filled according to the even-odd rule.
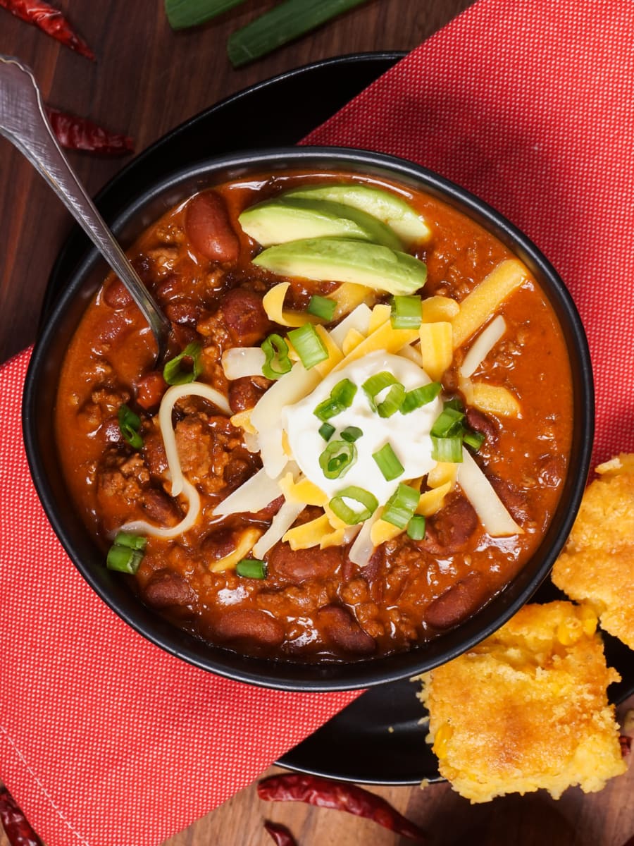
[[331,781],[321,776],[286,773],[265,778],[258,784],[260,799],[269,802],[307,802],[318,808],[346,810],[348,814],[374,820],[380,826],[413,840],[424,841],[425,833],[402,816],[389,802],[356,784]]

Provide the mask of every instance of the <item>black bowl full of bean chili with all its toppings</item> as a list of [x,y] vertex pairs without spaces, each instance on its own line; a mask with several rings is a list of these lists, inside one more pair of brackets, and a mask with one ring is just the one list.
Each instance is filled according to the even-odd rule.
[[[401,211],[381,219],[386,198]],[[309,147],[168,173],[111,225],[172,321],[171,360],[151,365],[90,254],[36,344],[24,431],[57,536],[120,617],[230,678],[354,689],[451,659],[527,602],[577,513],[593,382],[525,235],[424,168]]]

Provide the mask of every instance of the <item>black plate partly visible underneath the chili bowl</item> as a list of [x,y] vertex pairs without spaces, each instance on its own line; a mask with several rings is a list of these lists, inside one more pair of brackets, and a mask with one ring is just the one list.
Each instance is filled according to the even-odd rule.
[[[353,98],[403,53],[363,53],[328,59],[281,74],[228,97],[174,129],[150,146],[112,179],[96,197],[105,217],[139,190],[136,174],[159,177],[166,163],[187,165],[210,154],[243,150],[253,145],[252,129],[259,127],[259,146],[294,144]],[[292,110],[287,103],[292,102]],[[221,122],[221,124],[220,124]],[[222,132],[218,132],[218,126]],[[248,131],[245,131],[248,130]],[[57,257],[46,290],[42,315],[51,309],[84,258],[90,245],[74,228]],[[555,598],[552,586],[536,600]],[[623,681],[611,686],[610,699],[620,702],[634,693],[634,657],[626,646],[606,637],[609,664]],[[425,711],[416,694],[418,684],[407,680],[370,689],[352,705],[284,755],[282,766],[302,772],[363,783],[416,784],[438,779],[435,756],[424,737]],[[336,752],[334,751],[336,750]]]

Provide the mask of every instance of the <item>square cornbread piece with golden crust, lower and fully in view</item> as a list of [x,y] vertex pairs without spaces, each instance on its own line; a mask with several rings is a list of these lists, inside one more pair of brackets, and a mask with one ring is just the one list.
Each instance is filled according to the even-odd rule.
[[586,793],[625,772],[597,619],[571,602],[528,605],[423,679],[428,743],[472,802],[545,788]]

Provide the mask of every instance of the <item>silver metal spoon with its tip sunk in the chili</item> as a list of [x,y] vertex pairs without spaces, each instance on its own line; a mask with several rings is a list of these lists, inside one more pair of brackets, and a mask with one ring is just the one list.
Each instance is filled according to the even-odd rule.
[[170,323],[139,279],[94,203],[68,164],[46,118],[40,90],[30,69],[0,55],[0,135],[4,135],[46,179],[97,250],[128,288],[156,339],[157,359],[167,348]]

